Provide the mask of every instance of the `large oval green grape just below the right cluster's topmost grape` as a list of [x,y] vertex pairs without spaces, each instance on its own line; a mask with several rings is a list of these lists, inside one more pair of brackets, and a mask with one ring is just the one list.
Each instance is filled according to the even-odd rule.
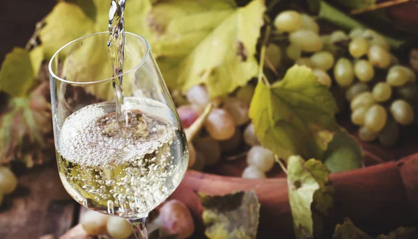
[[318,52],[323,43],[317,33],[300,29],[289,35],[289,41],[304,52]]

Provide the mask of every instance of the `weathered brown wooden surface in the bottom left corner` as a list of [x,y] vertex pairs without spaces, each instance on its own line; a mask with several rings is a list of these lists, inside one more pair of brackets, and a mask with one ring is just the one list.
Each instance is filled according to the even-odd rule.
[[65,192],[52,166],[20,172],[17,190],[0,208],[1,239],[61,236],[73,226],[78,205]]

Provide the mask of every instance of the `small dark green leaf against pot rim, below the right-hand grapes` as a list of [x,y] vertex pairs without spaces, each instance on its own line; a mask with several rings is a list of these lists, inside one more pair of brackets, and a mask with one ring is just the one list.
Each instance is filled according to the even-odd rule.
[[324,158],[325,165],[332,173],[359,169],[363,162],[362,147],[357,139],[340,130],[328,144]]

